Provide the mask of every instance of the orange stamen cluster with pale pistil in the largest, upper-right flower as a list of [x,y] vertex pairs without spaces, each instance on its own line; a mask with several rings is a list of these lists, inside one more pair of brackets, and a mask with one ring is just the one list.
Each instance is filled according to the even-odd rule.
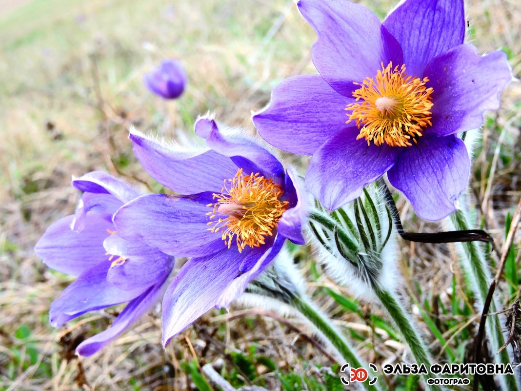
[[405,65],[393,68],[392,62],[378,70],[375,79],[366,78],[353,92],[355,103],[348,104],[349,124],[356,120],[360,129],[357,140],[365,138],[367,145],[387,143],[389,146],[410,146],[411,139],[422,135],[431,124],[432,88],[429,81],[407,76]]

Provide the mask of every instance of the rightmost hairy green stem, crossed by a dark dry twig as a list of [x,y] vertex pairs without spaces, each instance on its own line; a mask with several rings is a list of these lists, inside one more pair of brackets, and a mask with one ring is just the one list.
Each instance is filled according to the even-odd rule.
[[[468,217],[467,217],[467,200],[463,196],[460,199],[461,209],[457,210],[451,215],[452,224],[456,229],[469,229]],[[487,301],[487,295],[492,282],[487,260],[482,249],[476,242],[466,242],[456,245],[456,250],[459,253],[459,259],[461,262],[462,269],[467,276],[467,280],[470,282],[469,288],[474,290],[474,295],[477,299],[478,305],[482,308]],[[497,310],[497,306],[492,299],[490,302],[490,311],[494,312]],[[503,346],[505,340],[502,333],[502,325],[500,324],[498,316],[491,316],[488,318],[486,323],[487,333],[490,339],[491,351],[495,354],[501,346]],[[477,347],[477,350],[480,347]],[[499,353],[499,361],[502,363],[511,362],[508,357],[507,349],[502,350]],[[476,358],[477,359],[477,358]],[[517,383],[514,376],[512,375],[500,375],[497,376],[501,384],[501,388],[504,390],[515,391],[518,389]],[[477,378],[474,380],[474,389],[477,387]]]

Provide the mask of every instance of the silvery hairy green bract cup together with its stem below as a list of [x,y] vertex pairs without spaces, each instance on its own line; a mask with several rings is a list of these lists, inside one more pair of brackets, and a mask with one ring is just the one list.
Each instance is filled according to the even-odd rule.
[[[383,197],[378,184],[368,186],[362,197],[337,211],[328,214],[317,208],[309,216],[309,224],[328,272],[340,285],[386,309],[416,363],[427,365],[431,362],[427,346],[414,317],[396,294],[400,278],[395,262],[398,235]],[[430,389],[440,388],[432,385]]]

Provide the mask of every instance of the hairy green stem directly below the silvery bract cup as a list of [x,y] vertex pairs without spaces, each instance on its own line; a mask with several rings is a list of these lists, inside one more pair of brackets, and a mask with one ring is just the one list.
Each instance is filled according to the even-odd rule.
[[[373,286],[373,291],[382,303],[382,306],[385,307],[392,320],[400,330],[400,333],[402,334],[403,339],[405,339],[405,342],[411,349],[411,352],[413,353],[416,362],[418,364],[425,364],[427,366],[427,369],[429,369],[432,361],[430,360],[427,347],[418,335],[416,327],[412,322],[411,316],[405,312],[405,309],[403,308],[399,299],[392,292],[386,289],[382,289],[378,286]],[[432,376],[427,375],[426,378],[427,377]],[[430,389],[440,390],[441,388],[435,385],[431,385]]]

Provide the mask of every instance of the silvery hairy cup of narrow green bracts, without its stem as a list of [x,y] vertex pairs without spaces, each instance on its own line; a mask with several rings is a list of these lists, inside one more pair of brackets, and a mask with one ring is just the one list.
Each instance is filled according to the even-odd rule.
[[394,290],[396,231],[377,185],[334,212],[317,203],[309,226],[320,245],[321,262],[341,285],[370,300],[376,287]]

